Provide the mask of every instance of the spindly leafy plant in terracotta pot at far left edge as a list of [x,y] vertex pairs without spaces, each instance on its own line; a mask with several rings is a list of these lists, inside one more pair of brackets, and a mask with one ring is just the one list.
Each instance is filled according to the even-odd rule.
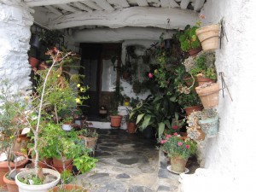
[[[28,162],[27,154],[16,152],[15,143],[28,124],[24,113],[26,102],[21,103],[24,96],[20,92],[13,93],[9,80],[1,80],[0,88],[0,188],[6,189],[6,183],[13,183],[16,169],[23,168]],[[13,172],[13,174],[9,174]],[[6,177],[8,176],[8,177]]]

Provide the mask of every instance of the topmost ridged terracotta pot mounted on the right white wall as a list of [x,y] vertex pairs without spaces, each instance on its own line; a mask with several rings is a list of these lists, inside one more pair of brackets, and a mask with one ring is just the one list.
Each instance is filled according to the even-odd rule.
[[218,49],[219,25],[203,26],[196,29],[196,35],[201,42],[202,49]]

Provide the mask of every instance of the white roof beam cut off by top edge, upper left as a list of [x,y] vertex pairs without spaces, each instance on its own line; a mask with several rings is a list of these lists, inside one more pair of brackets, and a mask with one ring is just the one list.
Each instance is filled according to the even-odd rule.
[[24,0],[29,7],[80,2],[81,0]]

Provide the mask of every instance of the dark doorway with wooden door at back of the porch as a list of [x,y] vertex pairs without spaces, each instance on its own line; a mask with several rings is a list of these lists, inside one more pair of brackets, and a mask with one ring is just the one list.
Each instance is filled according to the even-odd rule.
[[82,50],[80,74],[84,75],[84,85],[90,87],[81,108],[90,120],[101,120],[100,107],[111,109],[118,106],[114,100],[119,91],[119,67],[121,44],[80,44]]

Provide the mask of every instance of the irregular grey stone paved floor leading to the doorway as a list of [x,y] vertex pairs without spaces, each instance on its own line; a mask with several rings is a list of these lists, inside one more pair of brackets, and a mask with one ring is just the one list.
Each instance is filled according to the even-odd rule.
[[153,140],[124,130],[98,130],[93,172],[76,177],[98,192],[151,192],[158,189],[159,151]]

